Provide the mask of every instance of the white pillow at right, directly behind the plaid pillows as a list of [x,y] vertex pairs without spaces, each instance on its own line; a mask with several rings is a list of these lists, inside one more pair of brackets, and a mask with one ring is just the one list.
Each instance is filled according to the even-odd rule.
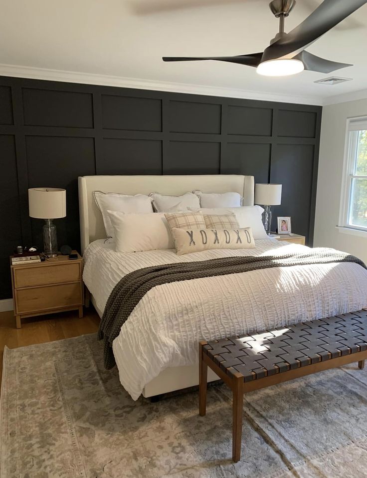
[[193,212],[201,214],[228,214],[233,212],[236,216],[238,225],[242,227],[251,227],[254,239],[268,239],[268,235],[262,223],[262,213],[264,209],[261,206],[242,206],[242,207],[228,207],[228,208],[213,208],[213,209],[190,209]]

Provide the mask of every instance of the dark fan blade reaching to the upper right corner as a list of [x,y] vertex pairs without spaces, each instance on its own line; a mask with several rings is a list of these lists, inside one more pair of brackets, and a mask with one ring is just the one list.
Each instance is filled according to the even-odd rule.
[[324,0],[302,23],[268,46],[262,61],[292,58],[365,3],[367,0]]

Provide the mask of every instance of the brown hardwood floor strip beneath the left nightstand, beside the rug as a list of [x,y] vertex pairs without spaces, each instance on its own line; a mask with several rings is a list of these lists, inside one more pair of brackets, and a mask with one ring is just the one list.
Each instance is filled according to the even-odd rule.
[[2,356],[5,345],[9,349],[42,344],[97,332],[100,318],[93,306],[84,308],[84,317],[77,311],[60,312],[22,320],[21,329],[15,327],[13,311],[0,312],[0,383]]

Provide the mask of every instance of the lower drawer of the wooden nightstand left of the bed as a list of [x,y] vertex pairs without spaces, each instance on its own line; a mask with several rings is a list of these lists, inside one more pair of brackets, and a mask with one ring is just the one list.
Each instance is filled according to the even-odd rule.
[[15,290],[16,313],[80,306],[83,293],[80,282]]

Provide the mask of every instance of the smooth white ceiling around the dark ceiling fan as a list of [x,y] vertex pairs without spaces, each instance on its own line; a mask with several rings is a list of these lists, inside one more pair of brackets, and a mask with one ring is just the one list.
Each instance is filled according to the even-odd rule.
[[[297,0],[286,19],[286,31],[320,3]],[[353,63],[332,73],[353,78],[344,84],[315,84],[331,75],[310,71],[269,78],[237,64],[164,63],[161,59],[258,52],[277,30],[278,20],[268,0],[1,0],[0,64],[135,78],[143,84],[243,90],[244,96],[261,92],[264,99],[271,97],[268,93],[285,95],[283,100],[289,95],[291,101],[303,97],[305,102],[319,104],[328,97],[367,88],[367,5],[308,48],[319,56]],[[0,65],[0,74],[9,72]]]

